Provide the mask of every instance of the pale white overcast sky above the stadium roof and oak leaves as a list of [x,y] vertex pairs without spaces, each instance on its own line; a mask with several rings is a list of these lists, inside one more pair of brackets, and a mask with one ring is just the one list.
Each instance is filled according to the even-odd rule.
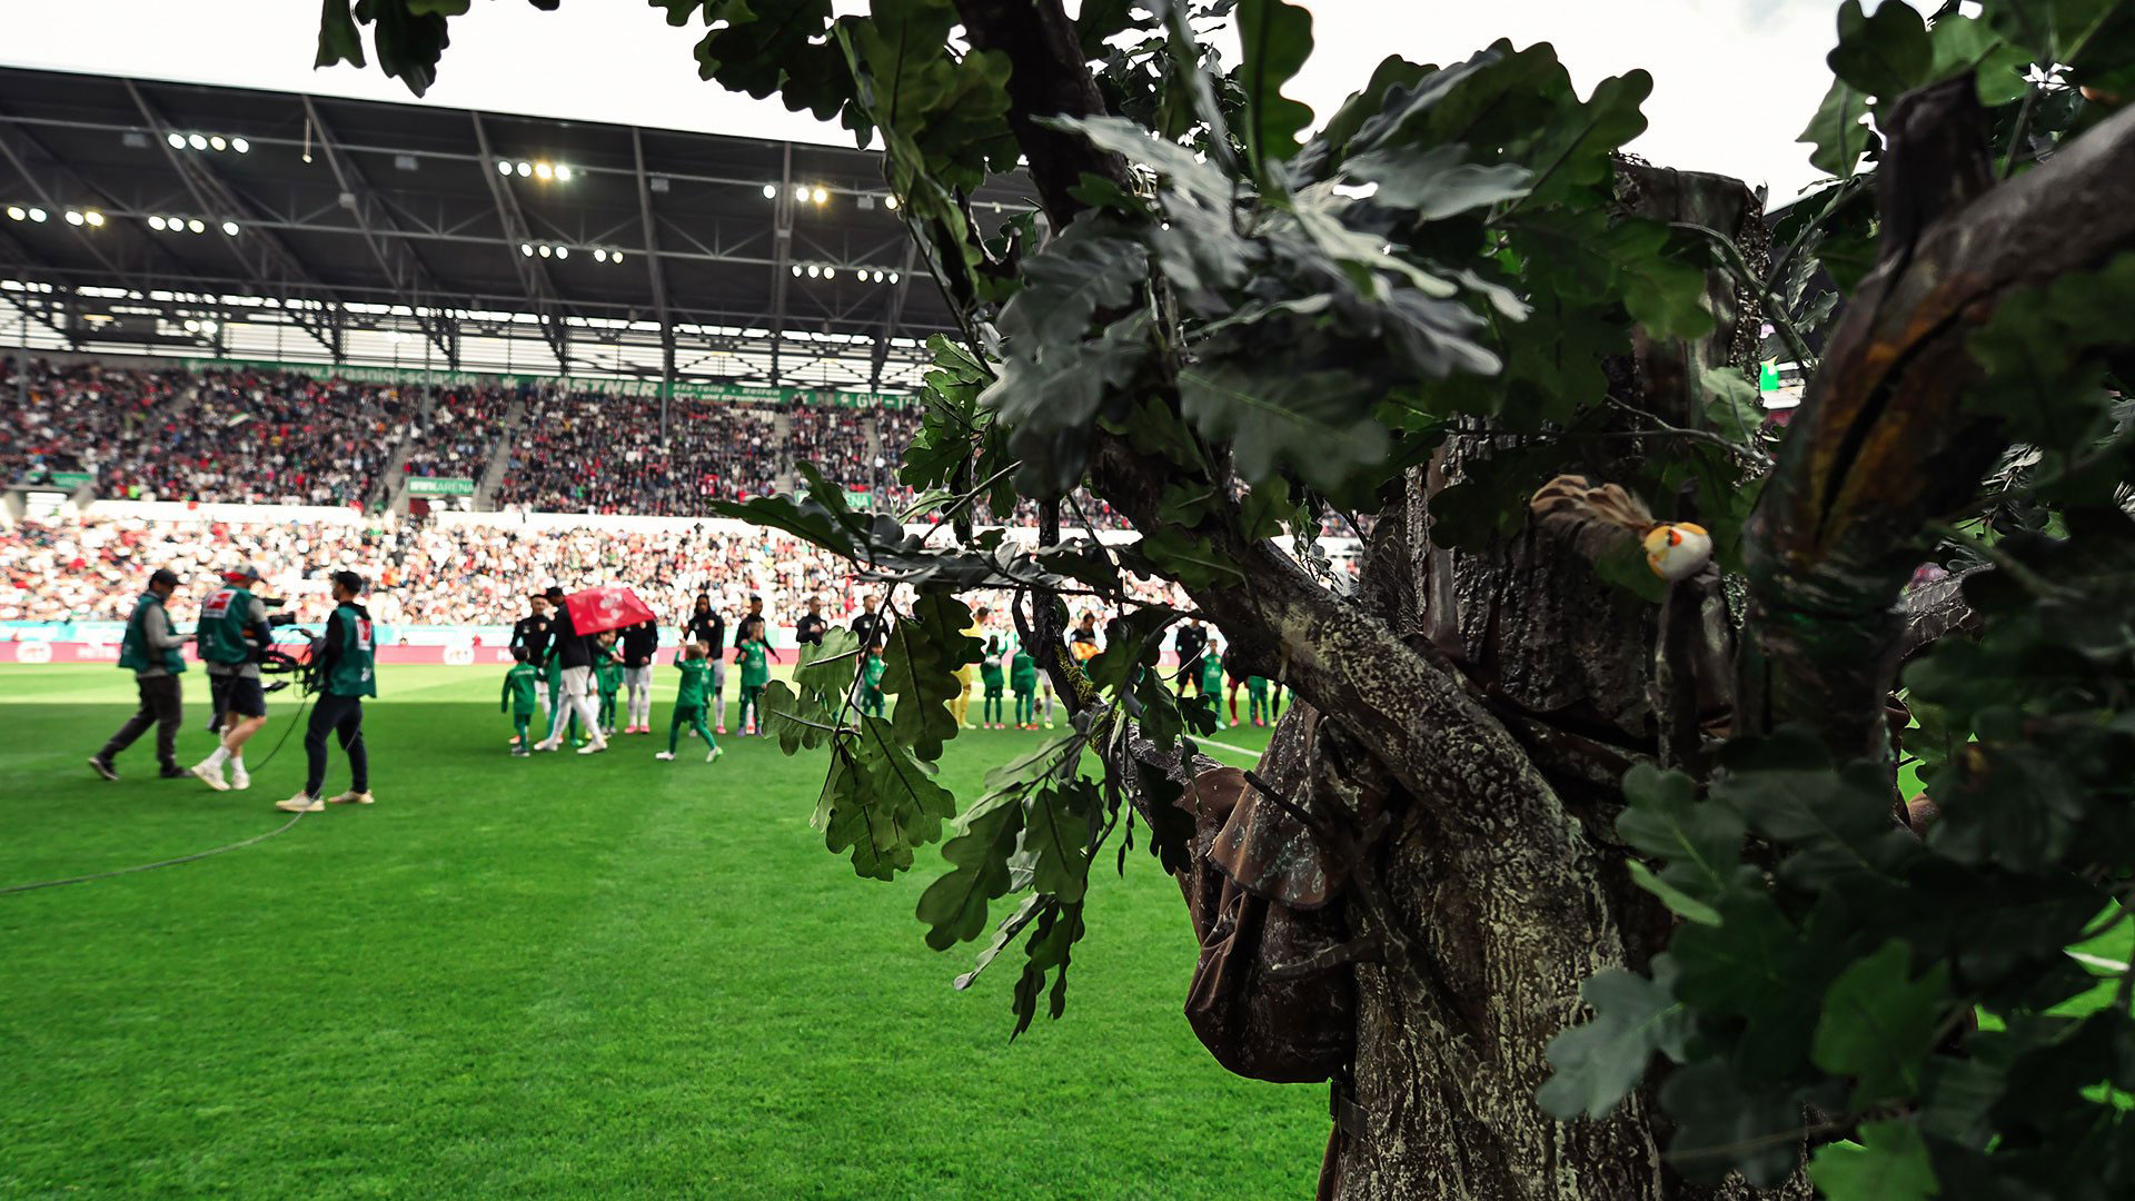
[[[1070,0],[1074,4],[1076,0]],[[839,11],[863,4],[839,0]],[[1644,66],[1655,77],[1646,135],[1633,150],[1770,184],[1787,199],[1817,173],[1793,135],[1830,85],[1836,0],[1307,0],[1315,53],[1290,92],[1322,118],[1388,53],[1467,58],[1494,38],[1550,41],[1578,88]],[[410,100],[374,68],[312,71],[318,4],[310,0],[0,0],[0,62],[105,75],[237,83],[374,100]],[[636,0],[566,0],[538,13],[478,0],[453,21],[427,103],[670,126],[707,132],[845,141],[835,126],[777,100],[696,79],[694,30]]]

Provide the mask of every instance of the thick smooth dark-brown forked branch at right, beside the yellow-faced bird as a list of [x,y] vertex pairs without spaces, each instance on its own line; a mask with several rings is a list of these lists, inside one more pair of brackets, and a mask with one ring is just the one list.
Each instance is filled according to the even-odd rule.
[[2007,295],[2135,248],[2135,109],[2000,186],[1986,128],[1962,79],[1894,107],[1881,263],[1825,346],[1749,526],[1755,637],[1736,729],[1806,722],[1838,754],[1887,750],[1894,605],[1928,521],[1960,506],[2005,444],[1964,410],[1979,380],[1966,338]]

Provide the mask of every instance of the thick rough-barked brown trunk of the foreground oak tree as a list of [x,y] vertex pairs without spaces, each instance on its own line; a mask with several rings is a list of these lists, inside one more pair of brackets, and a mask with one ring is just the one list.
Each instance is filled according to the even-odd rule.
[[[1734,182],[1646,167],[1625,169],[1635,212],[1727,233],[1764,259],[1755,199]],[[1712,338],[1693,346],[1640,344],[1612,372],[1620,400],[1670,423],[1697,402],[1708,365],[1753,359],[1757,306],[1714,274]],[[1614,442],[1625,447],[1625,442]],[[1603,1120],[1559,1122],[1533,1101],[1548,1079],[1546,1049],[1580,1015],[1578,987],[1612,966],[1644,968],[1672,919],[1629,883],[1612,823],[1616,778],[1659,752],[1652,605],[1601,583],[1593,566],[1527,530],[1482,553],[1428,539],[1428,496],[1488,453],[1488,438],[1448,447],[1413,472],[1388,543],[1366,558],[1360,594],[1416,645],[1452,656],[1507,729],[1529,746],[1546,784],[1448,806],[1401,806],[1377,855],[1386,910],[1413,938],[1420,970],[1360,964],[1349,1083],[1337,1083],[1337,1133],[1324,1192],[1371,1199],[1689,1199],[1757,1197],[1738,1180],[1697,1188],[1659,1154],[1665,1130],[1650,1094]],[[1623,453],[1638,453],[1631,444]],[[1584,464],[1610,479],[1612,462]],[[1541,481],[1537,481],[1541,483]],[[1672,498],[1655,498],[1667,502]],[[1292,716],[1285,720],[1300,720]],[[1351,885],[1356,887],[1356,885]],[[1347,910],[1366,936],[1369,906]],[[1768,1197],[1808,1197],[1806,1180]]]

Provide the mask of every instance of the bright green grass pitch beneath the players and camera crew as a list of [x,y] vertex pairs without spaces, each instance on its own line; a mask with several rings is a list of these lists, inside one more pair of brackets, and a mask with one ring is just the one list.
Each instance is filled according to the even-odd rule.
[[[1068,1017],[1010,1045],[1008,957],[959,994],[971,947],[920,940],[939,853],[854,878],[807,825],[820,763],[739,737],[717,765],[655,763],[664,737],[519,761],[493,673],[382,686],[374,808],[0,895],[0,1197],[1311,1195],[1326,1092],[1193,1041],[1193,938],[1140,851],[1093,891]],[[282,821],[301,733],[250,793],[154,780],[149,739],[94,778],[130,701],[107,667],[0,671],[0,887]],[[1027,737],[965,733],[946,782],[974,797]]]

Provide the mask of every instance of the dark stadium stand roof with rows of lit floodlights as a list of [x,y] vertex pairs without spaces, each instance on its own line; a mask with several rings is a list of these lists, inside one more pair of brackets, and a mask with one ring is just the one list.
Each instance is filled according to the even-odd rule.
[[895,391],[952,327],[845,147],[0,68],[0,214],[32,346]]

